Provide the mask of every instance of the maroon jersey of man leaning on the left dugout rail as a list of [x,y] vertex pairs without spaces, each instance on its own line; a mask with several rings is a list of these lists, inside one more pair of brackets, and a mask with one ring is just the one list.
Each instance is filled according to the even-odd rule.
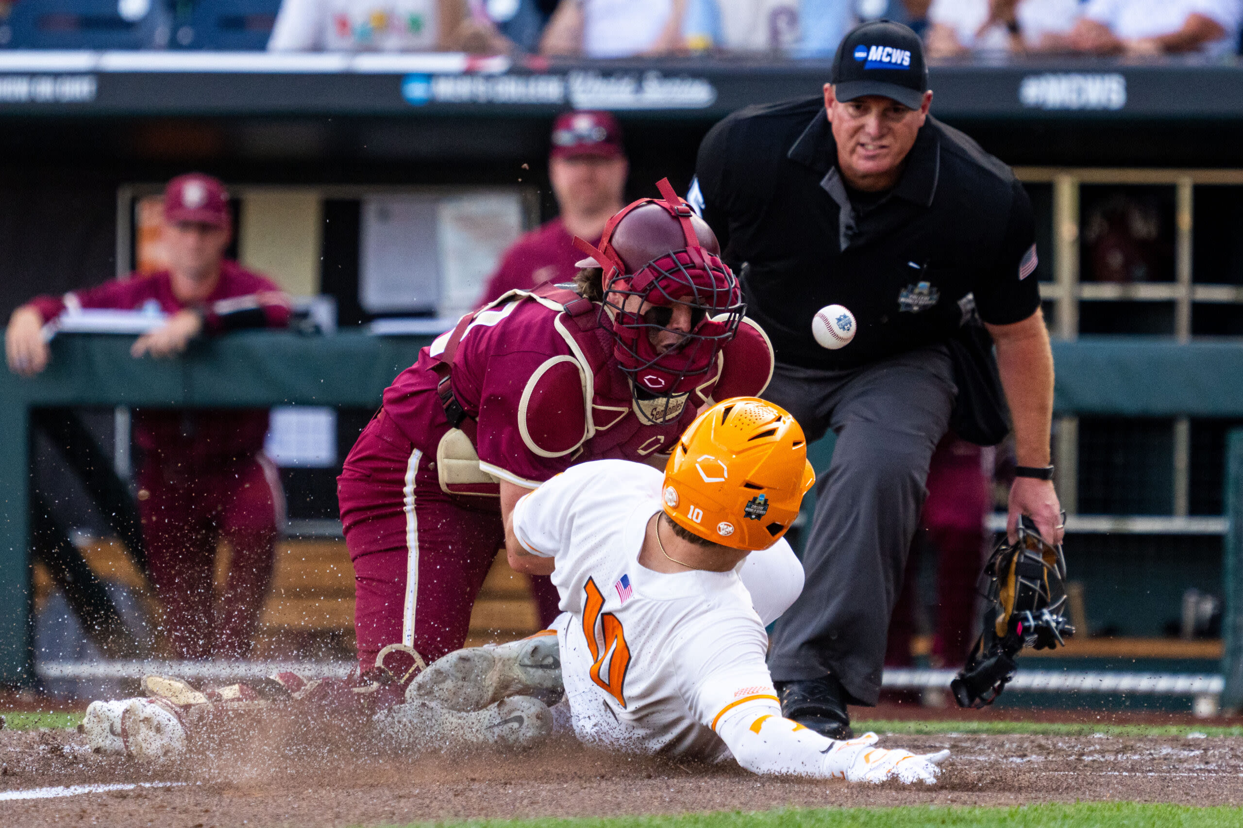
[[[36,297],[29,305],[48,322],[66,309],[140,310],[152,303],[168,314],[188,307],[173,295],[168,271],[104,282],[60,298]],[[242,326],[283,328],[290,320],[290,299],[270,279],[225,261],[220,282],[201,310],[208,333]],[[186,468],[252,456],[262,449],[266,433],[266,408],[143,408],[134,412],[134,441],[143,449],[163,456],[165,463],[172,461]]]

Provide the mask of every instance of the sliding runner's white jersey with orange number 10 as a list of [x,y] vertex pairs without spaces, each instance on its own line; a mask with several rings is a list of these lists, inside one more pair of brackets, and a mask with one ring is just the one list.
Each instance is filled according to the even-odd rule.
[[626,461],[576,466],[518,502],[513,531],[557,560],[562,677],[579,739],[726,758],[720,720],[777,706],[764,624],[798,597],[803,569],[784,539],[728,572],[640,566],[663,480]]

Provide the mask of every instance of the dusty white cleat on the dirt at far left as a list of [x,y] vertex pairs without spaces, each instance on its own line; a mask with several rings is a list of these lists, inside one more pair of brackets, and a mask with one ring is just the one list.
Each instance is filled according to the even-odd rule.
[[82,731],[97,754],[159,760],[185,752],[181,716],[162,699],[92,701]]

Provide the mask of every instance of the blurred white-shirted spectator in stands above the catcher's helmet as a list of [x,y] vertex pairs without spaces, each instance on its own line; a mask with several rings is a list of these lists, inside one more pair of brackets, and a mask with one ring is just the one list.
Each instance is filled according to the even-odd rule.
[[635,57],[681,46],[689,0],[561,0],[544,30],[544,55]]

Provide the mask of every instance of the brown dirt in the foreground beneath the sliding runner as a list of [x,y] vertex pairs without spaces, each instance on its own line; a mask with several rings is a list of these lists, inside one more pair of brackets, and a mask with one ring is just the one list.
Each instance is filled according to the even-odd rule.
[[[890,736],[953,751],[932,787],[759,778],[599,754],[561,739],[521,755],[383,755],[342,732],[280,722],[140,766],[91,754],[73,731],[0,731],[0,823],[226,828],[374,826],[466,817],[757,811],[781,806],[1017,804],[1124,799],[1243,803],[1243,737]],[[51,786],[129,785],[14,799]]]

